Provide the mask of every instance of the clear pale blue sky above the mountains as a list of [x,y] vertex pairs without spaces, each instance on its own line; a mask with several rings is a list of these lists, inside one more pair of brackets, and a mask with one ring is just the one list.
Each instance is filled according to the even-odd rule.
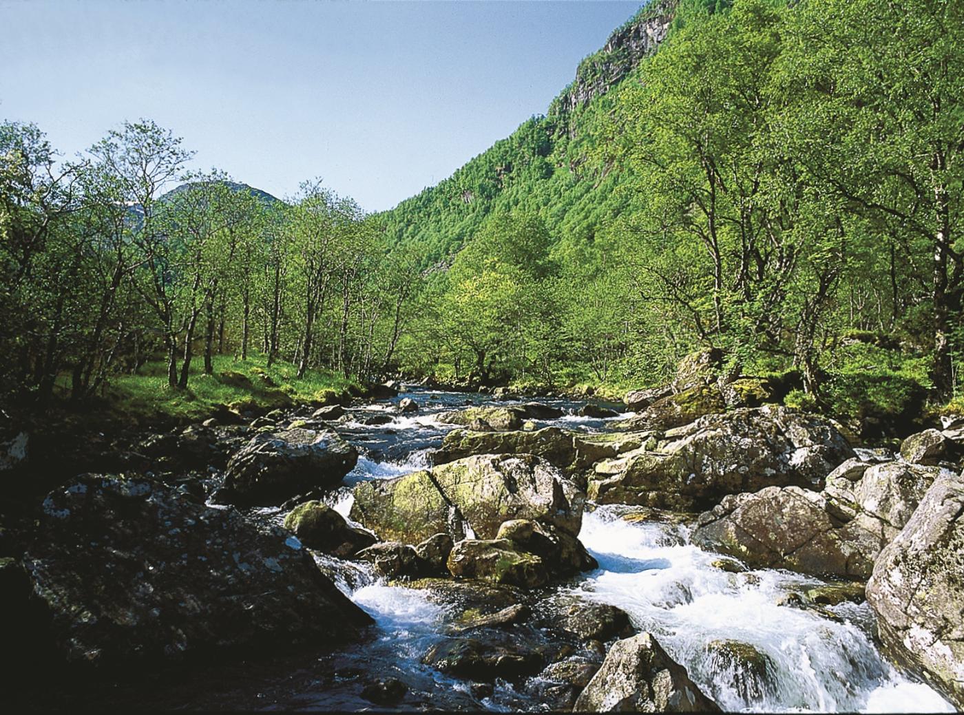
[[545,114],[640,4],[0,0],[0,119],[67,158],[153,119],[192,169],[380,211]]

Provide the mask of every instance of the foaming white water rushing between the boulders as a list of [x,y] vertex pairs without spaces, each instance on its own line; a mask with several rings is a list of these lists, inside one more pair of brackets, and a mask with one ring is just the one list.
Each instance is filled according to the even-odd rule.
[[[589,429],[602,426],[599,420],[572,416],[545,424],[569,429],[576,425]],[[431,415],[398,417],[386,427],[402,439],[419,432],[441,435],[450,429]],[[426,465],[424,448],[394,461],[362,457],[346,484],[393,478]],[[332,503],[339,513],[348,516],[352,500],[350,488],[343,488]],[[951,704],[929,686],[898,674],[883,658],[873,642],[873,616],[866,603],[844,602],[828,607],[827,617],[813,610],[778,605],[781,596],[824,582],[773,569],[731,573],[712,566],[718,555],[688,543],[685,527],[628,521],[620,514],[618,507],[600,507],[585,514],[579,538],[600,568],[560,591],[627,611],[633,625],[653,633],[724,710],[953,711]],[[442,638],[440,631],[452,614],[423,591],[388,586],[370,572],[353,586],[341,586],[376,620],[380,641],[397,655],[399,667],[424,671],[426,666],[418,659]],[[736,641],[763,655],[765,677],[758,678],[755,690],[747,692],[747,674],[736,672],[738,666],[721,664],[712,656],[708,644],[713,641]],[[434,678],[440,686],[465,687],[439,674]],[[507,689],[511,686],[500,683],[496,694]],[[486,698],[482,703],[492,709],[506,709],[511,700]]]

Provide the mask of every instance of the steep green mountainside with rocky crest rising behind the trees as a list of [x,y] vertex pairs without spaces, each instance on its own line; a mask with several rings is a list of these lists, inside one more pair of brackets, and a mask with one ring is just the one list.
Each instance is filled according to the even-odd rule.
[[458,251],[490,215],[524,209],[539,214],[558,240],[591,243],[633,203],[632,192],[620,191],[629,170],[597,156],[611,93],[632,81],[670,32],[677,5],[653,0],[640,9],[579,64],[545,116],[527,119],[450,177],[384,212],[388,236],[417,247],[430,263]]

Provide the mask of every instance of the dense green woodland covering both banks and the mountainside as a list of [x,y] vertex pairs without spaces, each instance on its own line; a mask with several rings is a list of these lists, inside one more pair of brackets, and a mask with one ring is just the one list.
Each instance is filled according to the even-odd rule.
[[383,214],[315,181],[281,201],[186,176],[146,119],[70,161],[3,123],[0,389],[83,403],[163,359],[190,390],[192,361],[253,352],[299,374],[625,388],[716,347],[809,409],[955,398],[964,5],[664,1],[633,23],[667,37],[607,91]]

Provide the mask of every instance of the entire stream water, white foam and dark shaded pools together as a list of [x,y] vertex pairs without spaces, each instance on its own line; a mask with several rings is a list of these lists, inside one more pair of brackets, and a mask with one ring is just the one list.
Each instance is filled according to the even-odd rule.
[[[397,413],[395,405],[413,398],[421,409]],[[427,466],[453,426],[437,416],[443,410],[492,402],[483,395],[413,389],[391,401],[348,410],[336,425],[359,447],[362,457],[329,497],[343,516],[352,505],[351,488],[366,480],[389,479]],[[580,403],[542,399],[576,411]],[[494,403],[499,405],[511,402]],[[379,412],[391,416],[378,426],[363,420]],[[621,415],[625,416],[625,415]],[[569,414],[536,421],[539,427],[598,432],[611,420]],[[280,521],[278,510],[257,510]],[[783,596],[823,582],[790,571],[759,569],[728,572],[712,565],[718,555],[688,541],[679,519],[639,519],[639,510],[603,506],[586,512],[579,535],[599,569],[545,590],[548,599],[577,596],[622,608],[638,630],[650,631],[712,700],[742,712],[939,712],[953,711],[922,682],[901,675],[874,641],[870,607],[844,602],[822,613],[778,605]],[[317,556],[338,587],[376,622],[371,639],[345,649],[249,659],[157,675],[133,689],[121,686],[115,706],[264,710],[544,710],[538,677],[511,684],[498,680],[479,692],[467,680],[442,675],[420,661],[446,635],[461,613],[444,595],[390,585],[366,565]],[[538,603],[534,607],[538,611]],[[732,662],[715,657],[708,644],[738,641],[763,654],[765,682],[753,681]],[[373,704],[362,688],[373,678],[397,677],[408,692],[397,703]],[[136,690],[136,692],[135,692]],[[94,699],[103,702],[100,698]]]

